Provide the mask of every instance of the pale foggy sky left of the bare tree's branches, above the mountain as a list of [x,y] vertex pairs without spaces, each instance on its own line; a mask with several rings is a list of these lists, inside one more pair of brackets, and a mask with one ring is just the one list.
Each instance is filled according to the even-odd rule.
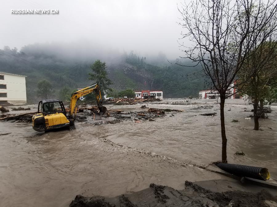
[[[33,43],[86,43],[141,55],[182,56],[177,40],[181,0],[12,0],[0,8],[0,48]],[[58,9],[59,14],[11,14],[11,9]],[[80,44],[82,47],[83,44]]]

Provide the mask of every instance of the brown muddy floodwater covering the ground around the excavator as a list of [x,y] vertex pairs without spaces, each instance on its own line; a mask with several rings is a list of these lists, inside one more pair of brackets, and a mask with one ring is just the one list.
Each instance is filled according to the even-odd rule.
[[[140,123],[128,120],[94,126],[77,122],[73,131],[40,133],[30,123],[1,121],[0,206],[68,206],[77,194],[111,197],[143,190],[150,183],[178,190],[186,180],[231,179],[193,166],[221,159],[219,104],[214,100],[199,104],[213,108],[149,104],[184,112]],[[141,106],[106,105],[124,113],[147,110]],[[259,120],[263,131],[254,131],[254,120],[245,119],[252,114],[251,108],[243,100],[227,100],[228,162],[266,167],[277,180],[277,106],[271,106],[268,119]],[[200,115],[211,112],[217,115]],[[241,150],[245,155],[234,154]]]

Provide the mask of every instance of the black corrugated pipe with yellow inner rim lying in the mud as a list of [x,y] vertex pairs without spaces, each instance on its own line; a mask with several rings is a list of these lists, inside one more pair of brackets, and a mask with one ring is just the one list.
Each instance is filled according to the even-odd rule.
[[264,167],[252,167],[229,163],[217,163],[215,165],[226,172],[241,177],[255,178],[258,180],[268,180],[270,178],[267,168]]

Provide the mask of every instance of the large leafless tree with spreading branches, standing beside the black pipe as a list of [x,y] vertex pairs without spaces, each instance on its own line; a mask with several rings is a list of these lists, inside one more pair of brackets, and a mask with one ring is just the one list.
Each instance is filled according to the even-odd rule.
[[[255,8],[255,12],[253,12]],[[181,44],[186,56],[201,65],[220,96],[222,162],[227,162],[224,103],[231,84],[237,79],[255,40],[276,14],[275,0],[263,4],[248,0],[192,0],[182,4],[180,25],[183,38],[193,46]],[[248,79],[250,77],[247,77]],[[243,84],[241,82],[241,84]]]

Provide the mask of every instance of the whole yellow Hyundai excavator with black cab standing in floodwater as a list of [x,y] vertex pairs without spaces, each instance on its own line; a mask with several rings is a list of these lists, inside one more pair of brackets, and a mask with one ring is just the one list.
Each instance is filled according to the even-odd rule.
[[94,84],[71,94],[68,116],[66,116],[66,110],[62,101],[58,99],[40,101],[38,103],[38,113],[32,117],[33,129],[38,132],[45,132],[66,126],[69,126],[70,130],[75,129],[74,121],[77,113],[77,101],[82,96],[92,92],[95,93],[100,113],[105,113],[107,108],[102,106],[103,101],[99,85]]

